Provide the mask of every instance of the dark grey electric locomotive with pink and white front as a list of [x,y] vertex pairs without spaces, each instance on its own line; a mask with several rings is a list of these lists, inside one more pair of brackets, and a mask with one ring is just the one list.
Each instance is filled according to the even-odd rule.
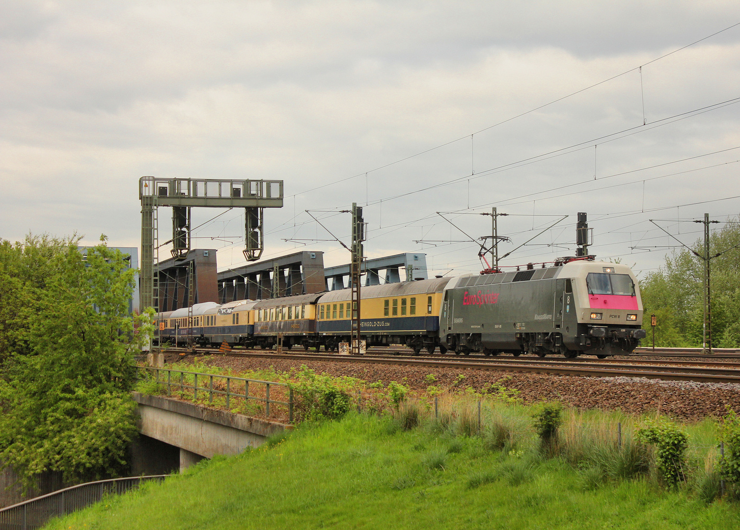
[[559,267],[460,276],[445,290],[440,339],[456,353],[630,353],[645,336],[642,300],[625,265]]

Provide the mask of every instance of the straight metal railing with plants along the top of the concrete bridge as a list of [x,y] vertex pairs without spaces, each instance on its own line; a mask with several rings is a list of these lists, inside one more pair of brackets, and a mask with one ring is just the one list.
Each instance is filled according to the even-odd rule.
[[[231,408],[232,398],[243,399],[245,403],[260,401],[265,404],[265,415],[270,415],[270,405],[282,405],[288,410],[288,421],[293,423],[293,389],[286,383],[276,383],[275,381],[260,381],[259,379],[247,379],[243,377],[222,376],[215,373],[186,372],[184,370],[170,370],[169,368],[156,368],[149,366],[139,366],[137,368],[137,378],[141,381],[141,373],[151,376],[159,384],[166,388],[167,395],[172,395],[172,390],[179,391],[181,394],[185,391],[192,391],[192,398],[198,401],[198,391],[208,394],[208,402],[213,403],[214,395],[226,396],[226,408]],[[173,377],[174,376],[174,377]],[[198,378],[203,381],[201,384],[208,386],[199,386]],[[224,390],[218,390],[213,387],[213,381],[225,380],[226,387]],[[192,381],[192,384],[190,382]],[[232,389],[232,383],[237,383],[237,389]],[[265,397],[259,395],[249,395],[249,389],[254,388],[255,384],[265,386]],[[243,391],[239,387],[243,388]],[[286,387],[288,389],[288,401],[277,401],[270,398],[270,387]],[[183,396],[184,397],[184,396]]]

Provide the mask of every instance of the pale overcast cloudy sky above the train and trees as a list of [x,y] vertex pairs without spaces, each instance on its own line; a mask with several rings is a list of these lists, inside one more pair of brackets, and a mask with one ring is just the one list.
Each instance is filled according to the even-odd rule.
[[[349,262],[305,210],[346,240],[331,211],[356,202],[369,256],[480,271],[435,212],[480,237],[466,213],[496,206],[499,254],[569,216],[502,265],[572,255],[585,211],[591,251],[645,274],[676,244],[650,219],[692,242],[677,220],[740,213],[739,22],[721,0],[0,1],[0,237],[138,246],[142,175],[281,179],[265,256]],[[241,211],[194,235],[243,264]]]

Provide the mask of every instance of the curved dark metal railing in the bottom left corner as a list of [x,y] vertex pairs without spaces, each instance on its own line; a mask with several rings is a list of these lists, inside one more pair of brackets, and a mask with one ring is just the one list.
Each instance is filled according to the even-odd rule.
[[32,530],[52,517],[61,517],[100,502],[105,495],[121,495],[144,480],[164,480],[169,475],[112,478],[60,489],[35,499],[0,509],[0,530]]

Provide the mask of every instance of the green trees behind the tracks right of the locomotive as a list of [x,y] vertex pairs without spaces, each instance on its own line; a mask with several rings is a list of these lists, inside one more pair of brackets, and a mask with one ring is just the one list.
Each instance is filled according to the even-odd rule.
[[[712,344],[715,347],[740,347],[740,218],[728,222],[710,235],[712,293]],[[712,225],[718,226],[718,225]],[[690,245],[704,255],[703,239]],[[658,271],[640,282],[645,305],[643,327],[650,342],[650,314],[658,320],[656,346],[701,346],[704,324],[704,260],[686,249],[666,256]]]

